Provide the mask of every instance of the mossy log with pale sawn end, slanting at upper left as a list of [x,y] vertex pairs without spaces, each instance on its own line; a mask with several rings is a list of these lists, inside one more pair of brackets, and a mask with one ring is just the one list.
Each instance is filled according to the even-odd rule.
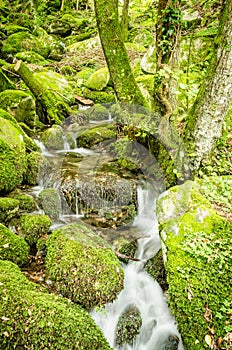
[[42,110],[49,123],[61,124],[72,113],[71,108],[57,97],[55,92],[44,88],[40,84],[22,61],[17,61],[14,70],[20,75],[24,83],[36,97],[37,102],[42,106]]

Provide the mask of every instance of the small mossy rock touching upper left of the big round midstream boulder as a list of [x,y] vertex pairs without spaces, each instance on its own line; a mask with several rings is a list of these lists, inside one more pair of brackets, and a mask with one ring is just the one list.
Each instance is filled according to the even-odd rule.
[[51,226],[51,219],[44,214],[23,214],[20,217],[19,233],[32,246],[39,238],[46,236]]

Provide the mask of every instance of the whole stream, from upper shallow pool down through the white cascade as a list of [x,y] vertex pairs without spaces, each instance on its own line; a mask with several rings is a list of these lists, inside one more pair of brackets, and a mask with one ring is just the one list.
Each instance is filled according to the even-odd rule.
[[[91,168],[99,167],[99,162],[107,161],[107,155],[102,152],[99,154],[97,151],[84,148],[70,150],[66,139],[64,139],[64,149],[58,151],[48,151],[41,142],[36,142],[40,146],[43,156],[49,164],[52,164],[52,170],[50,169],[43,176],[40,174],[39,186],[32,188],[32,192],[36,196],[42,189],[51,187],[51,184],[54,188],[59,188],[57,174],[64,167],[67,151],[81,154],[83,157],[81,160],[82,170],[80,167],[78,170],[78,175],[81,171],[84,173],[82,181],[88,181],[86,172],[90,173]],[[75,161],[73,163],[71,163],[71,167],[74,167],[75,171]],[[67,164],[69,163],[66,163],[66,167]],[[92,173],[91,176],[94,177],[94,174]],[[160,249],[158,222],[155,215],[156,197],[159,193],[159,184],[154,180],[137,180],[137,215],[125,232],[130,232],[132,236],[134,235],[133,238],[137,239],[136,258],[138,261],[130,260],[127,265],[122,263],[125,272],[124,289],[117,300],[107,304],[104,308],[91,311],[95,322],[102,329],[110,346],[115,350],[183,350],[181,336],[174,317],[170,314],[163,291],[158,282],[143,269],[145,262],[154,257]],[[64,202],[59,220],[53,223],[51,230],[83,218],[83,212],[79,210],[77,201],[76,213],[72,212],[67,203]],[[123,230],[119,231],[120,234],[123,234]],[[120,316],[131,305],[135,305],[140,312],[142,318],[140,332],[132,344],[119,346],[115,341],[117,324]]]

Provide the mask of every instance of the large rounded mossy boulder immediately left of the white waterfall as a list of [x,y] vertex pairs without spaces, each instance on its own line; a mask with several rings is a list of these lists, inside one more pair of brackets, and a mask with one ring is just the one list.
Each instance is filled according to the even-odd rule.
[[123,288],[124,273],[115,253],[82,224],[52,232],[46,267],[56,289],[87,309],[113,301]]

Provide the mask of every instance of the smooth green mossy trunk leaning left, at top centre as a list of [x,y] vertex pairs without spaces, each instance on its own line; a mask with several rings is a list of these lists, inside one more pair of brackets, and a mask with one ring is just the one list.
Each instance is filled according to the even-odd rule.
[[116,0],[94,0],[103,52],[118,100],[148,106],[132,72],[118,20]]

